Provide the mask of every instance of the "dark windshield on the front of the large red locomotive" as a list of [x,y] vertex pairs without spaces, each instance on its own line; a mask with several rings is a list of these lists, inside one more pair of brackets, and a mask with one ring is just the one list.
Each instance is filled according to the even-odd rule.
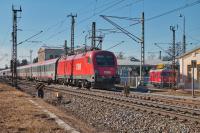
[[114,66],[114,57],[112,55],[97,55],[96,63],[98,66]]

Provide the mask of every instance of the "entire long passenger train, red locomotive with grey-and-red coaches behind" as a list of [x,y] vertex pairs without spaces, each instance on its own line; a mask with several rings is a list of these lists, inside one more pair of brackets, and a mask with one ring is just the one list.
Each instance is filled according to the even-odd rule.
[[[4,71],[10,72],[8,69]],[[113,87],[119,80],[116,72],[115,55],[103,50],[63,56],[17,68],[18,77],[22,79],[106,89]],[[0,71],[0,76],[1,73],[7,75]]]

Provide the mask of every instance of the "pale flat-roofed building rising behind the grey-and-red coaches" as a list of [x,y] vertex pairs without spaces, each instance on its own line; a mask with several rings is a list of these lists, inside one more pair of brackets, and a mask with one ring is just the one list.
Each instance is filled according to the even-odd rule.
[[64,49],[59,47],[41,47],[38,50],[38,62],[60,57],[64,54]]

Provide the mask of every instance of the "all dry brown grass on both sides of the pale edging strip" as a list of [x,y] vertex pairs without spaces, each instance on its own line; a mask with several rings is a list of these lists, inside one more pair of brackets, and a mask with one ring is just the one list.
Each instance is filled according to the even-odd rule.
[[77,119],[71,112],[49,105],[42,99],[32,98],[26,93],[0,83],[0,133],[65,133],[54,119],[33,105],[30,99],[80,132],[96,132],[93,127]]

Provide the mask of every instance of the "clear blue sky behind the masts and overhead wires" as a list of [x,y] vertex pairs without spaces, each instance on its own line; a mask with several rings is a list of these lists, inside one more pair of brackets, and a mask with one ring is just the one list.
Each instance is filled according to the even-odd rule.
[[[31,41],[41,43],[23,43],[18,47],[18,58],[29,56],[29,50],[33,50],[36,57],[38,49],[42,45],[61,46],[64,40],[70,42],[70,23],[67,17],[70,13],[76,14],[75,46],[84,44],[85,35],[91,29],[93,21],[97,29],[114,28],[103,20],[99,15],[113,15],[123,17],[141,17],[145,13],[145,19],[160,15],[167,11],[182,7],[186,4],[199,0],[0,0],[0,67],[9,65],[11,55],[11,32],[12,32],[12,4],[16,9],[21,5],[21,18],[18,19],[18,43],[43,30],[44,32]],[[200,1],[199,1],[200,3]],[[170,25],[178,25],[176,42],[182,41],[183,18],[186,18],[187,49],[192,49],[200,44],[200,4],[178,10],[176,12],[158,17],[145,22],[145,51],[157,52],[160,49],[154,46],[156,42],[172,42]],[[140,37],[141,25],[129,26],[133,22],[112,19],[129,32]],[[84,32],[85,31],[85,32]],[[140,45],[124,34],[106,33],[103,41],[103,49],[107,49],[121,41],[123,44],[113,48],[113,52],[123,52],[125,56],[140,58]],[[90,40],[87,40],[90,45]],[[160,45],[163,48],[169,45]],[[155,54],[157,56],[157,53]],[[24,57],[29,59],[28,57]]]

